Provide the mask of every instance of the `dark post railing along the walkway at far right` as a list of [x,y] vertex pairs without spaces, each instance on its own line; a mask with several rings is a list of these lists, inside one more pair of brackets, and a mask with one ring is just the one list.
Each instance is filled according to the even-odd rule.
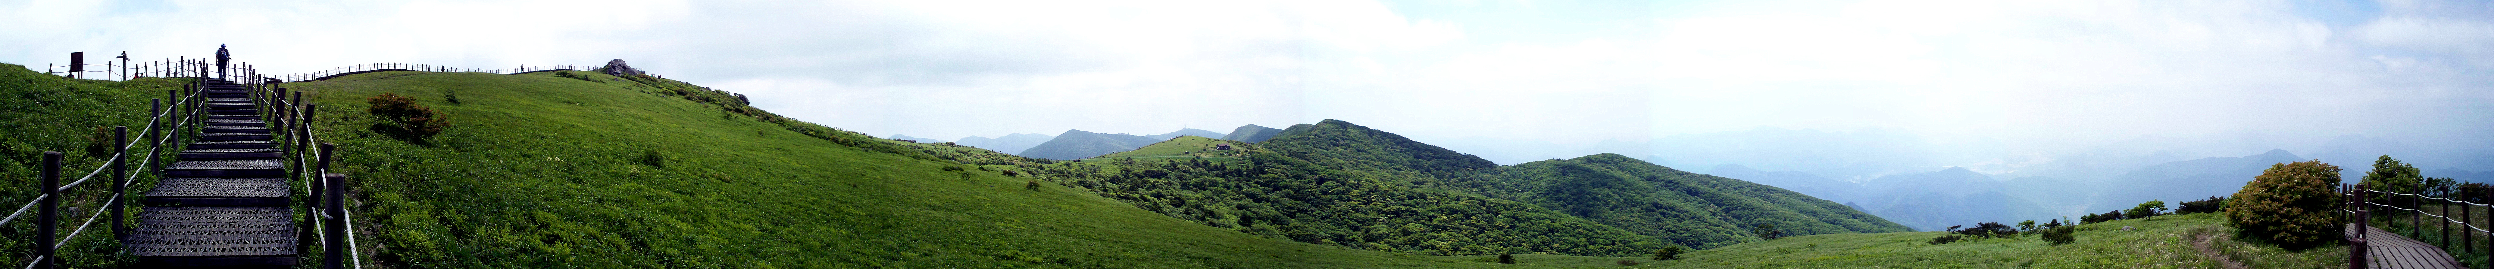
[[[2382,192],[2382,189],[2367,189],[2367,187],[2359,187],[2359,184],[2342,184],[2342,189],[2344,189],[2342,194],[2349,197],[2349,199],[2347,199],[2347,209],[2339,209],[2339,212],[2354,214],[2357,229],[2369,227],[2372,219],[2397,219],[2392,214],[2372,214],[2372,212],[2399,212],[2399,214],[2407,214],[2407,229],[2404,229],[2407,237],[2419,237],[2419,242],[2422,242],[2422,237],[2427,234],[2424,227],[2432,224],[2439,237],[2437,237],[2437,242],[2427,242],[2427,244],[2442,247],[2444,252],[2452,252],[2454,257],[2477,254],[2479,252],[2477,237],[2494,239],[2494,229],[2474,224],[2477,222],[2477,217],[2474,217],[2477,207],[2494,209],[2494,204],[2477,204],[2477,202],[2452,199],[2452,197],[2432,197],[2432,194],[2424,194],[2424,192],[2414,192],[2414,194],[2409,194],[2409,192]],[[2449,192],[2449,194],[2459,194],[2459,192]],[[2427,207],[2439,207],[2439,214],[2434,209],[2427,209]],[[2452,217],[2452,209],[2459,212],[2457,219]],[[2367,217],[2367,214],[2372,214],[2372,217]],[[2434,222],[2434,219],[2439,219],[2439,222]],[[2397,224],[2397,222],[2389,222],[2389,224]],[[2454,224],[2462,227],[2457,232],[2459,234],[2459,244],[2457,247],[2452,244],[2452,227]],[[2402,229],[2387,229],[2387,232],[2402,232]],[[2484,247],[2482,252],[2487,257],[2494,257],[2494,247]]]

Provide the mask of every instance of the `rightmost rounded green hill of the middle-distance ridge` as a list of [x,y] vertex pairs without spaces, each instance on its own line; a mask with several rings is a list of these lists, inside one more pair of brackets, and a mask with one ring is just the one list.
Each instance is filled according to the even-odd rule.
[[1621,154],[1524,162],[1499,174],[1449,179],[1444,187],[1531,202],[1701,249],[1758,239],[1751,232],[1756,224],[1773,224],[1788,237],[1910,232],[1828,199]]

